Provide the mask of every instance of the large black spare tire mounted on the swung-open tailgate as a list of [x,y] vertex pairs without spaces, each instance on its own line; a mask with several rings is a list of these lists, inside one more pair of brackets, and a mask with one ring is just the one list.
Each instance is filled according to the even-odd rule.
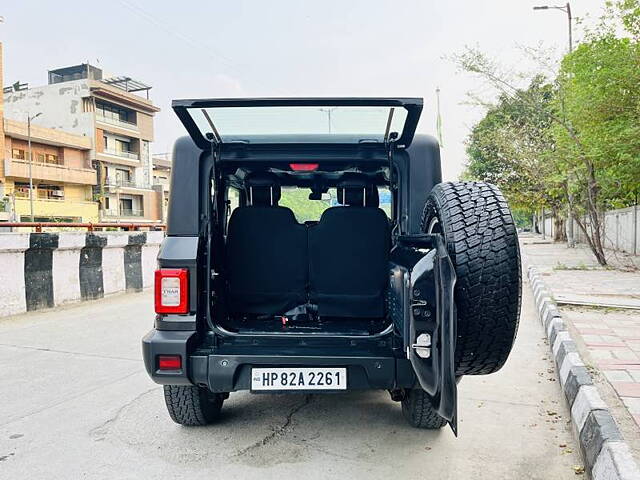
[[488,183],[440,183],[421,225],[444,236],[457,275],[456,375],[498,371],[515,340],[522,295],[518,235],[506,200]]

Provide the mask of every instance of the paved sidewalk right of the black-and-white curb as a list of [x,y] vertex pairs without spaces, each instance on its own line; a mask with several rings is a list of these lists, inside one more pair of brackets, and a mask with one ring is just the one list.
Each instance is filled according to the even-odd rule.
[[[635,420],[625,436],[631,433],[630,443],[640,448],[640,271],[603,269],[587,248],[569,249],[539,236],[522,235],[521,246],[577,334],[593,373],[606,378]],[[640,263],[629,257],[614,257],[611,263],[626,267],[630,261]]]

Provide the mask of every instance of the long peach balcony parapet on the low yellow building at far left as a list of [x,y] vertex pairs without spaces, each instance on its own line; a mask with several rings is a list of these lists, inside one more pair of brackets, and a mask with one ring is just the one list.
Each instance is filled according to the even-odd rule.
[[[29,178],[29,162],[21,159],[5,159],[4,172],[7,177]],[[91,168],[73,168],[55,163],[33,162],[31,173],[34,179],[56,183],[78,183],[96,185],[95,170]]]

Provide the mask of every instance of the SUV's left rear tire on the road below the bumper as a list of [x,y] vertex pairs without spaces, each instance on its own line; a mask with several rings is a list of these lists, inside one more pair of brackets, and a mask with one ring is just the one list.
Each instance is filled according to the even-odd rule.
[[165,385],[164,401],[171,419],[180,425],[208,425],[220,416],[225,396],[207,388]]

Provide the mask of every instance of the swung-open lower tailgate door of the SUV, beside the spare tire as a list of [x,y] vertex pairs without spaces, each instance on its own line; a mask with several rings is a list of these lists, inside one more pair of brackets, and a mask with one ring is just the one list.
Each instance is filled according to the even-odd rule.
[[405,346],[420,386],[457,435],[455,270],[441,235],[407,235],[399,241],[429,249],[405,283],[409,325]]

